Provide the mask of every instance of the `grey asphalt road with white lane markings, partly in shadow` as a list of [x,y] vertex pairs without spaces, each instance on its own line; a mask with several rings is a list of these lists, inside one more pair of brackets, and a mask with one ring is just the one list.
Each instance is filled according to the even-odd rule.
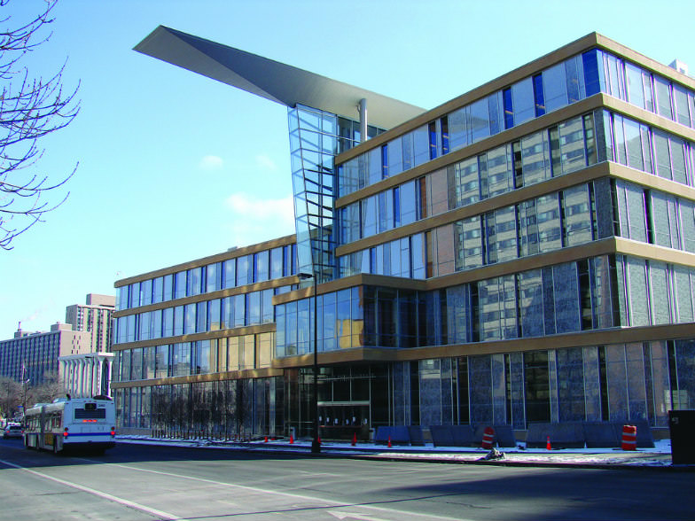
[[0,439],[0,520],[691,519],[692,472],[508,468]]

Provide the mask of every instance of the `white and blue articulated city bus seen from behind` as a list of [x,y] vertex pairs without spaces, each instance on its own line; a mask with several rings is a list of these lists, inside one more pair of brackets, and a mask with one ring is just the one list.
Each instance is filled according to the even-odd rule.
[[52,403],[37,403],[24,416],[24,446],[31,449],[82,449],[103,453],[116,439],[116,409],[113,400],[59,398]]

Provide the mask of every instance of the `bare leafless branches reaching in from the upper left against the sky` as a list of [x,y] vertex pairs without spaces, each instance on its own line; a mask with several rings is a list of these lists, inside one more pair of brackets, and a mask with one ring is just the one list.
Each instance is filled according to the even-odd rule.
[[[63,91],[65,63],[47,80],[33,76],[23,65],[28,54],[52,35],[43,33],[54,20],[51,12],[58,0],[43,1],[42,12],[14,27],[12,16],[0,18],[0,248],[4,250],[12,249],[15,237],[42,222],[43,214],[65,202],[69,193],[57,201],[50,196],[74,174],[73,169],[54,180],[37,170],[43,156],[39,140],[69,125],[80,108],[77,88]],[[0,9],[6,10],[10,3],[0,0]]]

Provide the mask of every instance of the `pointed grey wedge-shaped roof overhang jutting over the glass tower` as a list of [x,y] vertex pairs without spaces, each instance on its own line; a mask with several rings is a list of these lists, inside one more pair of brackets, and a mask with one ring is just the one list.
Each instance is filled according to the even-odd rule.
[[351,120],[358,119],[357,106],[364,98],[369,124],[379,128],[394,128],[426,112],[370,90],[169,27],[154,29],[136,45],[135,51],[282,105],[307,105]]

